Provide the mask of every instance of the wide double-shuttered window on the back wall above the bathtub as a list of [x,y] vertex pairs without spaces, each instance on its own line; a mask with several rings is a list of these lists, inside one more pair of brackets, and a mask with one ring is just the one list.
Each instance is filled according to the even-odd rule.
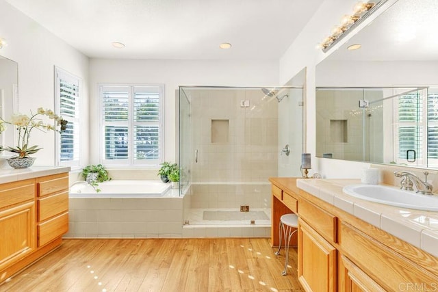
[[101,85],[101,160],[105,164],[162,162],[164,87]]

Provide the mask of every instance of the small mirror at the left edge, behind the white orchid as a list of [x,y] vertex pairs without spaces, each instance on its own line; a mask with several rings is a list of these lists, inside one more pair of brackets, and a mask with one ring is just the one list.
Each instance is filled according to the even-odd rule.
[[[18,64],[0,56],[0,116],[10,120],[18,105]],[[14,129],[8,129],[0,134],[1,145],[14,145]],[[1,155],[5,155],[2,152]]]

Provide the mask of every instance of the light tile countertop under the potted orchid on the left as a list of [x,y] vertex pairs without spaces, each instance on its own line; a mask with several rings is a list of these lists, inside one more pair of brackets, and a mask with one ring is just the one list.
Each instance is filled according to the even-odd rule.
[[13,181],[22,181],[23,179],[60,174],[69,171],[70,167],[63,166],[32,166],[30,168],[21,169],[2,168],[0,169],[0,183],[12,183]]

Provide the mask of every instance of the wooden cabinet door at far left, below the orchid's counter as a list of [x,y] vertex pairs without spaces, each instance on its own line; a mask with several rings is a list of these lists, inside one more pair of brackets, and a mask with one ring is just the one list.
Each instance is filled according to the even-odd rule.
[[34,202],[0,212],[0,271],[33,252],[35,245]]

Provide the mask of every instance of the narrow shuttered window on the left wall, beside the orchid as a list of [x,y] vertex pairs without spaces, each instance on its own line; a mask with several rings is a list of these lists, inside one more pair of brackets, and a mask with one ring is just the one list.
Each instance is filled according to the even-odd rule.
[[68,121],[57,137],[58,165],[79,166],[80,96],[79,78],[55,67],[56,111]]

